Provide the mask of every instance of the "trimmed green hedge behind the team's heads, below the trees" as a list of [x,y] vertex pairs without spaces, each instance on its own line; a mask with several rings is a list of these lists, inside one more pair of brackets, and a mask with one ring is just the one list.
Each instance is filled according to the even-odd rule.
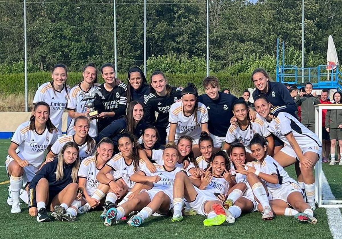
[[[250,81],[249,73],[241,73],[236,76],[229,75],[224,72],[212,72],[210,75],[215,75],[220,81],[220,87],[229,88],[232,92],[236,94],[241,94],[242,91],[248,87],[252,87],[252,82]],[[118,74],[119,79],[127,83],[127,74]],[[189,74],[166,74],[169,83],[174,86],[185,87],[188,82],[194,83],[200,93],[203,93],[202,80],[205,78],[205,74],[201,73],[189,73]],[[149,79],[150,75],[147,75]],[[99,83],[103,83],[101,75],[99,75]],[[25,92],[25,77],[24,73],[20,74],[0,74],[0,94],[10,95],[10,94],[24,94]],[[82,79],[81,72],[69,72],[67,84],[74,86]],[[28,73],[28,89],[29,93],[35,93],[39,85],[51,81],[50,72],[35,72]],[[149,80],[148,80],[149,81]]]

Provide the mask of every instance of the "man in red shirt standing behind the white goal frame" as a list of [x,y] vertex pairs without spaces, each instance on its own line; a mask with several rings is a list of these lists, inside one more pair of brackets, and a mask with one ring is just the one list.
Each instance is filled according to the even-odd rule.
[[[320,103],[321,104],[332,104],[329,99],[329,90],[323,89],[321,92]],[[325,115],[327,110],[322,110],[322,163],[327,163],[330,154],[330,138],[329,132],[325,129]]]

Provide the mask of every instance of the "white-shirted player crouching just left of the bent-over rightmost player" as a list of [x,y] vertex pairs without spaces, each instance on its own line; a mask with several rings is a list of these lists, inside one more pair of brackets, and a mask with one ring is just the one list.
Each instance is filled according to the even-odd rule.
[[250,121],[248,118],[248,109],[248,104],[244,99],[240,98],[234,102],[233,113],[237,118],[238,125],[236,126],[232,124],[229,126],[223,149],[228,151],[234,141],[240,141],[245,145],[246,151],[248,152],[247,161],[253,161],[254,159],[251,156],[249,142],[253,138],[254,134],[259,133],[266,137],[268,142],[268,153],[271,155],[273,153],[274,140],[271,133],[267,131],[263,119],[257,117],[254,122]]

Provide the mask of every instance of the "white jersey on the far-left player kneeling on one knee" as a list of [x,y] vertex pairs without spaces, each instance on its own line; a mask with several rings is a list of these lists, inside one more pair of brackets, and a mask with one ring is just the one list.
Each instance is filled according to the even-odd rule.
[[50,133],[45,128],[42,134],[30,130],[30,121],[24,122],[15,130],[11,142],[18,145],[18,156],[27,160],[34,167],[40,167],[44,160],[44,152],[57,140],[57,132]]

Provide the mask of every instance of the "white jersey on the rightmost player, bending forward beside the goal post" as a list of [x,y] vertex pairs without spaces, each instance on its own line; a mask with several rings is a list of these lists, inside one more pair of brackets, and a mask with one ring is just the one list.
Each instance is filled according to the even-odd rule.
[[271,122],[267,122],[264,118],[264,123],[269,132],[289,146],[290,143],[285,136],[292,132],[299,147],[302,149],[310,146],[321,147],[321,142],[317,135],[289,113],[279,112],[278,116],[272,119]]

